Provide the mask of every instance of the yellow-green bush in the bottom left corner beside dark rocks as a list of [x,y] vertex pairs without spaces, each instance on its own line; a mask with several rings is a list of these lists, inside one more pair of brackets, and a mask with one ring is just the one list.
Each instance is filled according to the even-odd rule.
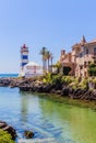
[[0,130],[0,143],[15,143],[12,140],[11,134],[9,134],[7,131]]

